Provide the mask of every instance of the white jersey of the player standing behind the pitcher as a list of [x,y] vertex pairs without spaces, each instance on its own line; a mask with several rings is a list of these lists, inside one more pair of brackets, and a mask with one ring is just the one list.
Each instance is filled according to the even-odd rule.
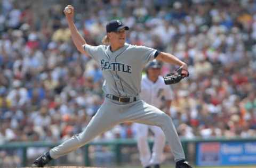
[[170,86],[164,84],[163,77],[159,76],[154,83],[145,75],[141,80],[140,97],[146,103],[161,108],[163,106],[163,98],[165,100],[172,100],[173,92]]

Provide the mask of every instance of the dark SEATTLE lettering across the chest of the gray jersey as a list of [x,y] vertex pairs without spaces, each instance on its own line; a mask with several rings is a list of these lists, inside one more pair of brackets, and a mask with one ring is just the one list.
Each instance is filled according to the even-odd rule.
[[132,73],[132,66],[126,65],[118,62],[109,62],[101,60],[101,70],[110,70],[110,71],[121,71],[126,73]]

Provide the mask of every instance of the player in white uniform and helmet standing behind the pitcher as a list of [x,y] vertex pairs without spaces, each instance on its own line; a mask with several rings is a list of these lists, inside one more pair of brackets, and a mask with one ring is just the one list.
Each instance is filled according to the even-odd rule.
[[[153,60],[146,65],[146,73],[141,80],[140,97],[146,103],[153,105],[161,110],[165,108],[165,113],[169,114],[171,100],[173,94],[171,87],[165,85],[163,77],[161,77],[162,63]],[[164,132],[160,127],[154,125],[146,125],[135,123],[134,127],[137,132],[138,149],[140,153],[140,161],[143,167],[159,168],[163,161],[163,149],[165,146]],[[152,154],[150,153],[147,137],[148,130],[154,133],[154,146]]]

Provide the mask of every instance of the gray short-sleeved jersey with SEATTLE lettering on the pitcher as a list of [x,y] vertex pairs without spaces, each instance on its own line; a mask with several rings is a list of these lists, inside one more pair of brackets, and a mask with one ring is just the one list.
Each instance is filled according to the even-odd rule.
[[105,82],[105,94],[119,97],[137,96],[141,90],[141,73],[146,63],[153,60],[156,49],[125,43],[115,52],[110,46],[85,44],[84,50],[98,62]]

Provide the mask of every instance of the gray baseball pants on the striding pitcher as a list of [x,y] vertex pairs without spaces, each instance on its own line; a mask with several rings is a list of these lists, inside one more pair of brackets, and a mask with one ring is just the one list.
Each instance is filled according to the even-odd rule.
[[85,130],[57,147],[50,150],[54,159],[66,155],[89,143],[92,139],[117,124],[130,121],[149,125],[157,125],[164,131],[167,143],[171,147],[174,161],[185,159],[180,139],[170,116],[143,100],[132,103],[121,103],[105,98],[98,112],[92,117]]

